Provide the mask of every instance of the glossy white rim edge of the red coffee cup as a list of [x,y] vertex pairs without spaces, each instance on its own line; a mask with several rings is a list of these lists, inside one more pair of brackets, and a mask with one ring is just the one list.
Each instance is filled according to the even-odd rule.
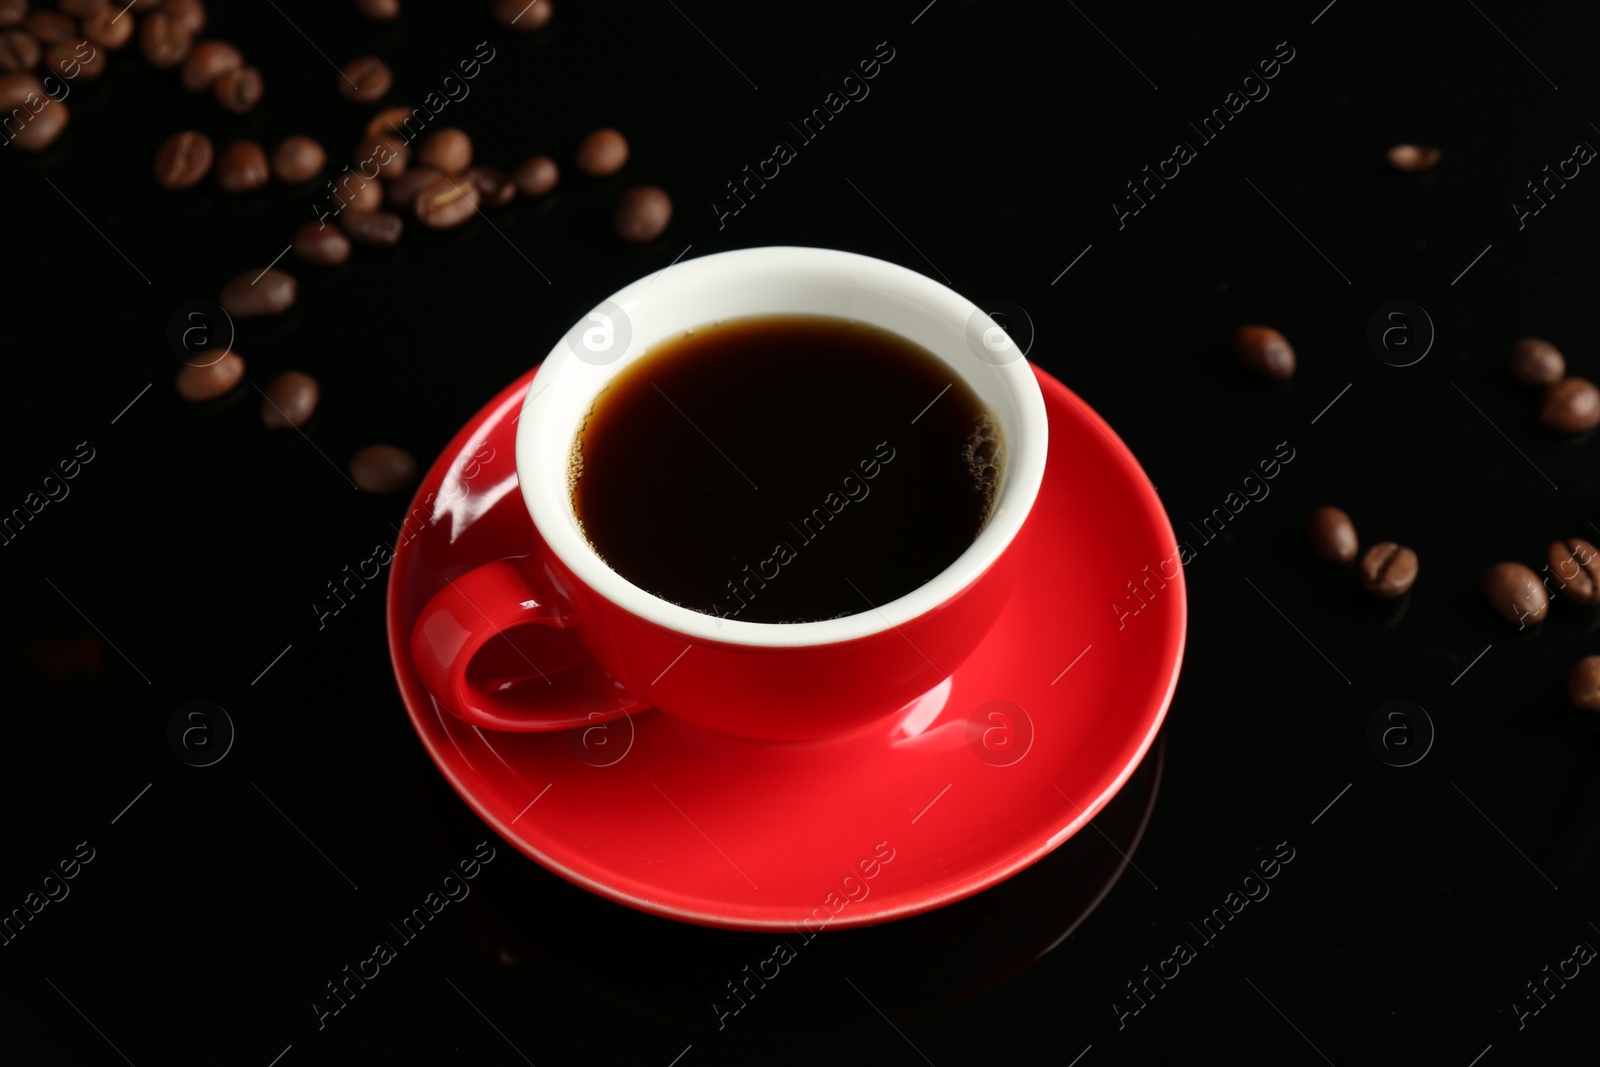
[[[598,312],[608,306],[630,310],[642,306],[646,299],[666,299],[674,288],[672,285],[664,285],[666,282],[712,288],[718,282],[731,285],[752,277],[771,280],[781,277],[784,272],[806,272],[814,277],[819,269],[835,270],[840,277],[853,278],[859,285],[878,286],[880,290],[912,299],[930,314],[957,328],[968,328],[976,317],[981,317],[979,322],[989,323],[984,328],[986,331],[1002,330],[973,301],[915,270],[858,253],[794,245],[741,248],[678,261],[622,286],[606,301],[602,301],[595,310]],[[790,309],[773,307],[770,314],[794,312]],[[850,315],[837,317],[850,318]],[[704,318],[706,323],[717,320],[714,314]],[[872,323],[870,318],[861,318],[861,322]],[[581,326],[582,322],[573,330]],[[1006,438],[1006,466],[1002,475],[1002,488],[995,498],[989,522],[979,531],[978,537],[942,571],[909,593],[838,619],[750,622],[694,611],[693,608],[685,608],[646,592],[602,560],[578,528],[571,504],[568,488],[571,442],[555,458],[539,450],[534,440],[539,427],[547,421],[563,421],[563,414],[568,414],[566,421],[570,421],[570,413],[574,408],[579,413],[587,413],[605,386],[618,373],[672,334],[643,339],[630,338],[627,342],[629,347],[614,362],[595,366],[595,363],[579,360],[576,349],[570,344],[570,338],[574,336],[573,330],[563,334],[544,357],[518,416],[517,475],[523,502],[544,544],[579,582],[603,597],[608,603],[672,630],[691,643],[714,641],[752,648],[808,648],[853,641],[898,630],[912,619],[950,601],[978,581],[1016,537],[1043,485],[1045,458],[1048,454],[1048,421],[1045,400],[1032,365],[1021,355],[1008,363],[995,365],[979,360],[976,354],[968,357],[954,352],[933,352],[942,363],[950,366],[957,374],[962,374],[968,384],[978,379],[978,368],[984,368],[982,373],[998,374],[1002,389],[1010,394],[1016,408],[1011,424],[1002,426]],[[971,358],[973,366],[963,368],[962,360],[965,358]],[[573,394],[576,387],[573,384],[574,379],[576,386],[582,387],[576,395]],[[1026,446],[1018,448],[1013,442],[1022,442]]]

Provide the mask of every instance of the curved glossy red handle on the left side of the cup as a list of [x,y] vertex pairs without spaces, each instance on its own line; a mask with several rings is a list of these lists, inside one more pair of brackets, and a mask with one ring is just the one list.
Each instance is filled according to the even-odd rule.
[[[544,731],[592,726],[650,707],[592,659],[546,673],[530,648],[526,685],[486,685],[467,673],[472,659],[512,627],[565,630],[570,619],[533,585],[520,560],[496,560],[451,579],[411,629],[411,662],[450,713],[483,729]],[[539,680],[547,685],[539,685]]]

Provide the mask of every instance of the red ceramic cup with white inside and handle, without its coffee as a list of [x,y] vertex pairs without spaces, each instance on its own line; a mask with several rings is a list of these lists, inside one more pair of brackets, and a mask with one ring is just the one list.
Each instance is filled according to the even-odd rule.
[[[918,589],[842,619],[747,622],[653,597],[602,561],[573,510],[573,443],[613,378],[688,330],[781,314],[850,318],[920,344],[995,414],[1005,446],[973,544]],[[994,318],[931,278],[822,248],[674,264],[605,301],[544,358],[517,427],[528,553],[453,577],[427,603],[411,633],[418,675],[446,710],[485,729],[570,729],[646,709],[765,741],[866,726],[947,678],[1000,614],[1018,581],[1013,544],[1045,477],[1046,434],[1027,360]],[[485,645],[512,637],[523,677],[472,670]]]

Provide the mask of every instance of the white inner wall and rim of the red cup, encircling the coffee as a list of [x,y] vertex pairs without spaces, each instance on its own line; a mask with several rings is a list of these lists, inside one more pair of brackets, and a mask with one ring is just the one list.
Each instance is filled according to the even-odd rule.
[[[606,384],[658,344],[750,315],[830,315],[907,338],[942,360],[995,414],[1005,445],[989,522],[926,584],[859,614],[821,622],[720,619],[654,597],[613,571],[584,537],[568,472],[573,445]],[[1045,472],[1038,381],[997,323],[950,288],[869,256],[826,248],[747,248],[674,264],[634,282],[562,338],[539,368],[517,426],[517,474],[541,536],[606,600],[662,627],[734,645],[795,648],[848,641],[930,611],[978,577],[1011,542]],[[982,354],[982,355],[981,355]],[[843,382],[842,382],[843,387]]]

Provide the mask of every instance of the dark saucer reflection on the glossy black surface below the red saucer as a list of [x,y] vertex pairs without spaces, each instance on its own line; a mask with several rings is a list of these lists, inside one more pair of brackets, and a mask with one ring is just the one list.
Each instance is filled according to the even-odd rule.
[[[502,846],[494,877],[462,902],[461,921],[493,968],[542,968],[675,1025],[757,1033],[858,1029],[837,1011],[846,977],[885,1016],[906,1022],[1014,977],[1088,918],[1144,835],[1163,753],[1158,736],[1093,825],[1054,853],[926,915],[821,931],[810,941],[805,933],[712,929],[614,904]],[[442,857],[470,853],[486,827],[432,765],[419,763],[419,773]]]

